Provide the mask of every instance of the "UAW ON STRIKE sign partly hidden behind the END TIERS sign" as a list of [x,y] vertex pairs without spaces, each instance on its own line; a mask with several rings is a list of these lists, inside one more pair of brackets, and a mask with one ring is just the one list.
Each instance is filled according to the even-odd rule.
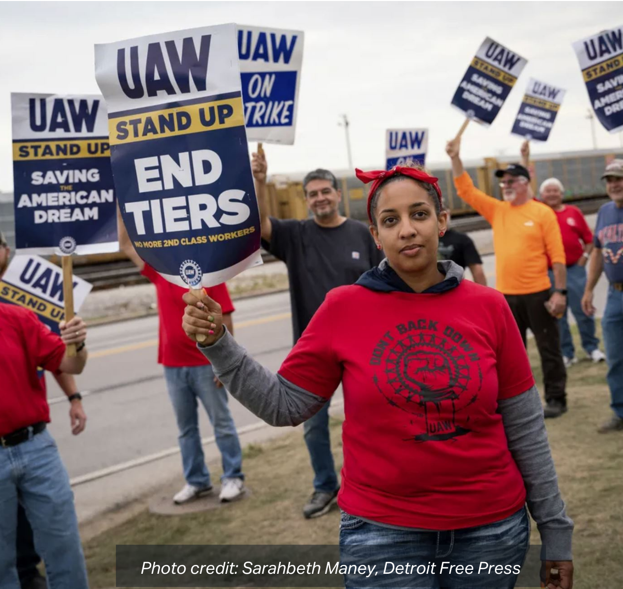
[[249,141],[294,143],[303,31],[237,25]]

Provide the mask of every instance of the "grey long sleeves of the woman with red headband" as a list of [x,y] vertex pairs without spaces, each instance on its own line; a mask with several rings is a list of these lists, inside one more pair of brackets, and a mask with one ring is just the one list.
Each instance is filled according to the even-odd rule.
[[[327,399],[288,382],[259,364],[226,331],[212,346],[197,346],[215,374],[257,417],[274,426],[296,426]],[[526,487],[526,502],[541,534],[543,560],[571,560],[573,521],[567,516],[549,449],[536,387],[498,402],[510,450]]]

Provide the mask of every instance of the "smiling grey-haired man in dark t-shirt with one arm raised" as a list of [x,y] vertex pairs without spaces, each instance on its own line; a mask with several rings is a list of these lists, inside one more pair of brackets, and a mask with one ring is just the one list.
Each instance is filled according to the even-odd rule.
[[[383,254],[368,227],[340,215],[341,192],[328,170],[316,169],[303,179],[310,219],[269,216],[264,153],[252,159],[255,191],[262,224],[262,245],[288,268],[294,343],[305,331],[316,309],[332,288],[353,284],[378,265]],[[340,488],[329,438],[329,403],[305,422],[303,431],[315,476],[314,491],[303,507],[307,518],[322,516],[335,502]]]

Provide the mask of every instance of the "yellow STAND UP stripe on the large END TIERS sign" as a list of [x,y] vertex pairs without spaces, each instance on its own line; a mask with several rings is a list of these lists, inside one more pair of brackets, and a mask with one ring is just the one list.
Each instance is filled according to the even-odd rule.
[[242,98],[237,97],[110,118],[108,133],[110,144],[120,145],[242,125]]

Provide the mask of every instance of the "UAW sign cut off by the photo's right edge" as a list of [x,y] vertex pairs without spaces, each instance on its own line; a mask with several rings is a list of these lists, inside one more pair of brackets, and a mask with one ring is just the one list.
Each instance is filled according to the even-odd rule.
[[611,133],[623,130],[623,26],[576,41],[573,49],[599,122]]

